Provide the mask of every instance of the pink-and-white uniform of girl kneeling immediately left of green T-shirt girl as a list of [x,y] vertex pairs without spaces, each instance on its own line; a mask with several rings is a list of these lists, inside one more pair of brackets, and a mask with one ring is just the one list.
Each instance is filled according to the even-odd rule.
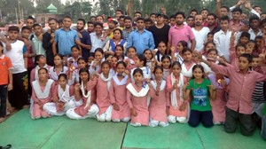
[[[190,106],[188,101],[183,99],[183,86],[187,82],[184,75],[179,75],[179,80],[176,89],[174,89],[174,83],[176,82],[173,74],[167,77],[167,91],[169,93],[169,115],[168,122],[171,123],[186,123],[189,120]],[[179,108],[182,104],[187,103],[184,111],[180,111]]]

